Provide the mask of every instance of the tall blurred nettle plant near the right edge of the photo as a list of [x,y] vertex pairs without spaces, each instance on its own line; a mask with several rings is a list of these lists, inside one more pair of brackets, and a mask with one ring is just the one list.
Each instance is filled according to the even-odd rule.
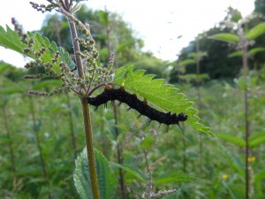
[[[261,47],[251,48],[254,45],[255,40],[265,33],[265,23],[261,22],[251,29],[247,28],[248,23],[255,18],[262,18],[257,14],[251,14],[242,18],[239,11],[234,11],[228,19],[223,21],[225,27],[231,29],[231,33],[221,33],[211,35],[209,38],[218,40],[221,42],[227,42],[234,45],[237,51],[231,53],[229,57],[241,57],[242,58],[242,76],[241,80],[237,80],[239,88],[244,92],[244,111],[245,111],[245,141],[240,140],[240,145],[245,147],[245,183],[246,183],[246,199],[251,198],[254,193],[251,193],[251,166],[249,164],[249,158],[251,155],[251,149],[256,143],[251,142],[251,128],[250,128],[250,104],[249,99],[251,97],[250,92],[252,89],[251,76],[249,74],[248,61],[249,57],[258,52],[262,52],[265,49]],[[219,135],[217,135],[219,136]],[[226,134],[223,138],[229,138]],[[236,138],[239,141],[239,138]]]

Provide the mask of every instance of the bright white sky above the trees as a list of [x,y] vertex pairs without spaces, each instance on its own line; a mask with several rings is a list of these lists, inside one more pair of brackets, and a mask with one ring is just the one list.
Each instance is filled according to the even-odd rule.
[[[12,27],[11,18],[15,17],[27,31],[40,29],[45,15],[35,11],[29,2],[3,1],[0,26]],[[34,2],[46,4],[45,0]],[[145,42],[145,51],[170,61],[176,60],[179,51],[198,34],[221,21],[229,6],[239,9],[243,16],[254,11],[254,0],[88,0],[83,4],[92,9],[116,11]],[[26,62],[18,53],[2,47],[1,59],[20,67]]]

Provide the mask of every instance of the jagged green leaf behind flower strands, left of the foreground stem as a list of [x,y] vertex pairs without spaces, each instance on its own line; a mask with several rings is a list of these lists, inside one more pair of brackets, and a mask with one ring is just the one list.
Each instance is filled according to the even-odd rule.
[[[66,65],[68,65],[70,69],[75,67],[75,64],[72,61],[72,58],[69,56],[68,52],[66,52],[61,47],[58,48],[55,42],[49,42],[48,38],[38,33],[32,34],[30,32],[27,32],[27,35],[34,40],[34,50],[39,51],[42,48],[46,49],[44,55],[42,55],[41,57],[44,63],[52,63],[52,59],[55,57],[57,51],[60,53],[58,61],[54,64],[53,67],[55,71],[59,71],[59,64],[61,62],[64,62]],[[26,44],[21,42],[19,34],[11,30],[11,28],[8,26],[6,26],[6,31],[4,30],[4,27],[0,27],[0,46],[17,51],[20,54],[23,54],[33,59],[37,58],[34,54],[28,54],[24,52],[24,49],[27,48]]]

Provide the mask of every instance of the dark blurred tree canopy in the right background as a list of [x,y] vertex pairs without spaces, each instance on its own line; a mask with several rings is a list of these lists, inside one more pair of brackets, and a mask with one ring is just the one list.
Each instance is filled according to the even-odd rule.
[[[256,1],[258,2],[258,1]],[[261,3],[259,3],[261,4]],[[225,20],[230,19],[231,21],[238,21],[241,19],[240,11],[228,8],[227,14],[223,21],[216,24],[215,27],[210,28],[208,31],[198,35],[199,38],[199,49],[208,53],[208,57],[201,59],[201,73],[208,73],[209,79],[233,79],[240,73],[241,69],[241,58],[240,57],[229,57],[229,55],[236,50],[236,46],[219,42],[216,40],[210,40],[208,37],[213,34],[233,32],[233,29],[227,27],[224,23]],[[246,23],[246,32],[255,27],[259,23],[264,21],[259,16],[255,16]],[[261,35],[257,38],[253,48],[263,47],[265,45],[265,35]],[[180,51],[178,62],[185,60],[189,57],[189,54],[196,52],[196,40],[193,40],[189,45]],[[254,60],[254,61],[253,61]],[[257,53],[251,59],[250,68],[261,68],[265,59],[263,53]],[[186,65],[186,73],[196,73],[195,63]],[[177,81],[177,72],[173,70],[170,75],[171,82]]]

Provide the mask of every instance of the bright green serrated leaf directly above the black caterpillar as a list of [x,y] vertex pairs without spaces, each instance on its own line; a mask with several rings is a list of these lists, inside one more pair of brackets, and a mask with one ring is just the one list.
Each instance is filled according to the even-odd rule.
[[155,75],[144,75],[144,70],[133,71],[133,65],[125,65],[115,72],[113,84],[124,87],[126,91],[146,98],[148,103],[154,104],[162,111],[171,113],[184,112],[188,116],[186,123],[197,131],[214,136],[210,128],[199,123],[196,116],[198,111],[193,103],[185,98],[184,94],[177,93],[178,88],[163,84],[162,79],[153,79]]

